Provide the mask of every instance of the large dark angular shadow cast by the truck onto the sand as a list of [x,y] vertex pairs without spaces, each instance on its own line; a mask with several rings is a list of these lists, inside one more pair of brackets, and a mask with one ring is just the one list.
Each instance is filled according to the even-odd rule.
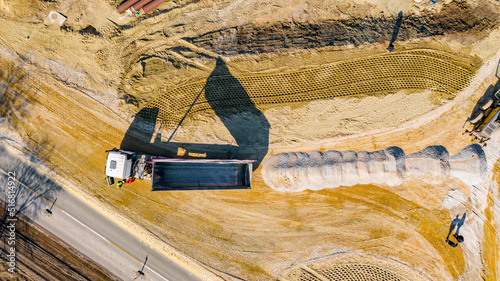
[[268,152],[270,124],[221,58],[208,77],[203,94],[236,145],[176,142],[175,133],[182,130],[182,121],[172,135],[162,137],[155,130],[162,126],[161,120],[157,120],[159,109],[143,108],[135,115],[120,149],[173,158],[253,159],[254,170],[257,169]]

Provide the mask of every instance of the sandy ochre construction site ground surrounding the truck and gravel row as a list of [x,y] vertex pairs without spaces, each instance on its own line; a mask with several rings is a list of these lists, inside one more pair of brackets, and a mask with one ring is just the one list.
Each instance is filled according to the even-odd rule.
[[[3,143],[204,280],[499,278],[498,139],[476,186],[282,193],[261,175],[281,152],[469,145],[464,121],[498,81],[496,1],[179,0],[140,17],[119,4],[0,0]],[[62,27],[43,24],[51,10]],[[114,147],[258,168],[251,190],[117,189]]]

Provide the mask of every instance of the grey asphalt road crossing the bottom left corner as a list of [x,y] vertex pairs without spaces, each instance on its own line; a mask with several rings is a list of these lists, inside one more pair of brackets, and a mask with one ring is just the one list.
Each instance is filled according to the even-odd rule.
[[[200,280],[146,245],[30,164],[0,146],[0,199],[7,202],[15,173],[16,209],[123,280]],[[47,214],[52,203],[52,215]],[[138,271],[146,264],[138,276]]]

